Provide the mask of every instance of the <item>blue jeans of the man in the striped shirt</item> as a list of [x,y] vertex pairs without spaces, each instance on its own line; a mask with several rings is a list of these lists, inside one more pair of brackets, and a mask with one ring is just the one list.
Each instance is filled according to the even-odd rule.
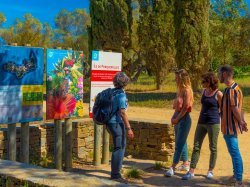
[[232,158],[234,177],[242,181],[243,162],[238,146],[238,138],[235,135],[224,135],[228,152]]

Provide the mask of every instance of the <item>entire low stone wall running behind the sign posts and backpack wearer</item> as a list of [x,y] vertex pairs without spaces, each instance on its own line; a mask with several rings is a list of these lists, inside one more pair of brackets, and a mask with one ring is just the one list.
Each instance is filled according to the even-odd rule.
[[[162,121],[131,120],[135,138],[127,142],[127,155],[134,158],[168,161],[174,150],[174,131]],[[64,128],[63,128],[64,130]],[[73,158],[91,162],[94,125],[91,119],[73,120]],[[64,138],[63,138],[64,142]],[[112,146],[112,145],[111,145]],[[54,125],[30,126],[30,158],[53,155]],[[17,128],[17,160],[20,152],[20,127]],[[0,158],[7,158],[7,129],[0,130]]]

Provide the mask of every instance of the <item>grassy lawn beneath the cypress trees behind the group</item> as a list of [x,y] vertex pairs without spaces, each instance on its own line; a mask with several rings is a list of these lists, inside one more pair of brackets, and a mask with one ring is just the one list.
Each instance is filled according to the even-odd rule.
[[[241,86],[244,95],[244,110],[250,112],[250,76],[236,78],[235,81]],[[152,108],[172,107],[176,94],[174,74],[169,74],[161,90],[156,90],[154,77],[143,74],[136,83],[130,83],[126,92],[129,105]],[[223,91],[225,86],[220,84],[219,89]],[[249,103],[249,104],[248,104]],[[200,109],[200,93],[195,93],[194,108]]]

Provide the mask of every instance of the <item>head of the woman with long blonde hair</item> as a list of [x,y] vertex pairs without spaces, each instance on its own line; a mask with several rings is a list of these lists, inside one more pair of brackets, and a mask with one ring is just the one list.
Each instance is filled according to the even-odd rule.
[[187,87],[191,88],[190,77],[185,69],[180,69],[175,72],[175,81],[178,87],[178,91],[182,91]]

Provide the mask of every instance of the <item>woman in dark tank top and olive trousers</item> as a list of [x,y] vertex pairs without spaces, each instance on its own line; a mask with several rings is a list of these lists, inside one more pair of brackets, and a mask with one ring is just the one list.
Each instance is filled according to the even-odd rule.
[[194,170],[200,157],[203,140],[208,134],[210,161],[207,178],[213,178],[213,169],[217,159],[217,140],[220,132],[220,114],[222,92],[218,90],[218,78],[212,72],[202,75],[201,111],[195,130],[194,147],[191,158],[190,170],[182,177],[189,180],[194,177]]

